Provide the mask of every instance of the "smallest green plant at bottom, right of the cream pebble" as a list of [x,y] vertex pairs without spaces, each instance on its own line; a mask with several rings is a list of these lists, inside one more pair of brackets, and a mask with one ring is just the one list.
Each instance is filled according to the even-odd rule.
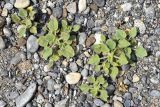
[[97,78],[93,76],[88,77],[88,82],[89,83],[81,84],[80,89],[82,92],[91,93],[93,97],[100,98],[103,101],[108,100],[108,93],[106,90],[108,83],[102,75]]

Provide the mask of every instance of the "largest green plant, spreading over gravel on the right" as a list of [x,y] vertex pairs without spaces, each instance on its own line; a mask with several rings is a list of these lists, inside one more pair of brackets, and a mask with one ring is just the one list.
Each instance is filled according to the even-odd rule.
[[139,58],[147,56],[146,50],[142,46],[137,46],[136,35],[136,27],[128,31],[117,29],[115,35],[109,39],[102,35],[100,44],[92,46],[94,54],[88,63],[93,65],[95,71],[104,71],[115,80],[122,65],[134,62],[133,56]]

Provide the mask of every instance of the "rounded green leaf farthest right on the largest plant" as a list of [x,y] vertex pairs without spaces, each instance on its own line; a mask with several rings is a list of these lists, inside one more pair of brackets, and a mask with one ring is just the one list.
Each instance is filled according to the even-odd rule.
[[140,46],[136,48],[136,56],[139,58],[143,58],[147,56],[147,51],[142,46]]

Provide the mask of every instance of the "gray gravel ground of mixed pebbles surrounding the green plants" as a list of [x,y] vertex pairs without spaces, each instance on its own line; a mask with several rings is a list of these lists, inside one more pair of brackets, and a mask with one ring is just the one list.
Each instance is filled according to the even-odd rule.
[[[36,20],[42,24],[53,15],[81,25],[78,55],[49,68],[40,57],[38,35],[17,38],[11,14],[29,5],[41,11]],[[117,27],[132,26],[139,28],[137,40],[149,55],[109,83],[107,103],[83,94],[78,86],[94,75],[87,64],[88,47],[95,42],[92,35],[103,32],[110,36]],[[68,84],[74,82],[78,83]],[[0,1],[0,107],[160,107],[159,84],[159,0]]]

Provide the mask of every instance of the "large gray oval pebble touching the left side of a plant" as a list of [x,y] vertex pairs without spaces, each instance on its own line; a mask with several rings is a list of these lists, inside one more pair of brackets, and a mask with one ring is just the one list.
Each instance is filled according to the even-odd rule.
[[27,39],[27,50],[31,53],[34,53],[38,50],[38,43],[37,43],[37,37],[31,35]]

